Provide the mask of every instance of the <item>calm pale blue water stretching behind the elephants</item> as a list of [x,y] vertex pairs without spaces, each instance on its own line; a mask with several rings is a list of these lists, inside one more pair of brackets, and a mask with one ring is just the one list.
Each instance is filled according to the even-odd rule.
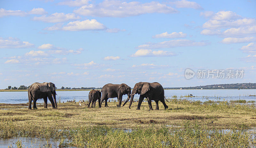
[[[67,102],[67,100],[76,99],[88,100],[89,91],[57,91],[58,96],[56,96],[57,102],[60,99],[61,102]],[[196,97],[191,97],[188,99],[192,100],[246,100],[246,101],[256,101],[256,97],[249,97],[249,95],[256,95],[256,90],[164,90],[165,97],[172,97],[176,95],[178,98],[181,96],[187,96],[192,94]],[[126,100],[127,95],[123,96],[123,100]],[[134,99],[138,99],[139,95],[135,95]],[[184,98],[184,97],[183,97]],[[117,98],[110,98],[110,101],[117,100]],[[28,102],[28,92],[17,91],[17,92],[0,92],[0,103],[27,103]],[[37,103],[43,103],[43,99],[36,101]],[[50,101],[48,101],[50,103]]]

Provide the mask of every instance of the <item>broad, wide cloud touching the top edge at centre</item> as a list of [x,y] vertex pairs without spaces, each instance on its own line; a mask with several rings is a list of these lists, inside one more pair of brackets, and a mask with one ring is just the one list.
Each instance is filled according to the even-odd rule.
[[129,17],[146,13],[177,13],[178,11],[159,2],[140,3],[105,0],[99,4],[84,5],[74,10],[75,13],[96,17]]

